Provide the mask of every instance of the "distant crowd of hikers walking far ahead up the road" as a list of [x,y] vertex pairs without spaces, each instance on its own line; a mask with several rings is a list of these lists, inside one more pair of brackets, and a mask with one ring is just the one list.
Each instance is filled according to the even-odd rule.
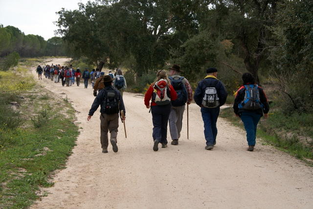
[[[100,89],[104,88],[103,85],[103,76],[104,72],[100,72],[98,68],[92,69],[89,72],[89,69],[86,67],[83,72],[81,72],[80,68],[75,68],[70,65],[67,66],[61,66],[60,64],[51,65],[46,64],[44,68],[40,65],[37,66],[36,72],[38,74],[38,79],[42,79],[42,74],[45,75],[46,79],[50,79],[51,81],[54,81],[54,83],[60,83],[62,86],[71,86],[75,84],[76,79],[76,85],[80,85],[81,78],[84,79],[84,86],[85,88],[88,88],[89,82],[92,84],[92,88],[94,89],[94,94]],[[112,70],[109,70],[108,74],[112,79],[114,79],[114,86],[119,89],[121,94],[126,89],[126,80],[123,76],[123,72],[121,69],[116,69],[116,72],[113,74]]]

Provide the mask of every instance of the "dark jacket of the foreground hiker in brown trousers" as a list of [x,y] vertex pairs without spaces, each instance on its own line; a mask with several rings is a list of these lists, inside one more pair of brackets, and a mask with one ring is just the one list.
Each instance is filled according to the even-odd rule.
[[[113,86],[106,86],[104,89],[99,90],[97,97],[94,99],[91,108],[89,110],[89,115],[93,115],[93,113],[98,109],[99,105],[102,105],[102,101],[105,99],[105,90],[114,90],[117,95],[118,95],[118,99],[120,101],[119,104],[119,110],[123,110],[124,114],[126,115],[126,111],[125,111],[125,106],[124,106],[124,102],[123,102],[123,98],[121,96],[121,94],[119,93],[119,91],[115,88],[113,88]],[[102,108],[100,109],[101,112]],[[104,112],[101,112],[104,113]]]

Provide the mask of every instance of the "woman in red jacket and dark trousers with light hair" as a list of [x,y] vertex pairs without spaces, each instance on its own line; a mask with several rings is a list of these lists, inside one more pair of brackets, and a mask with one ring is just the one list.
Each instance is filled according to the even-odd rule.
[[151,107],[152,112],[154,151],[158,150],[159,143],[162,144],[162,148],[167,147],[167,123],[171,112],[171,101],[177,99],[176,91],[166,72],[159,70],[156,76],[156,81],[150,85],[144,98],[146,107],[148,109]]

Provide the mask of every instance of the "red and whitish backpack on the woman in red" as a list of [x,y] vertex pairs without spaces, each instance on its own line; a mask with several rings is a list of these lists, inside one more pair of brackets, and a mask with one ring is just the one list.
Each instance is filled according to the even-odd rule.
[[160,79],[153,86],[154,92],[152,96],[152,101],[157,105],[166,105],[171,103],[170,90],[167,86],[167,81]]

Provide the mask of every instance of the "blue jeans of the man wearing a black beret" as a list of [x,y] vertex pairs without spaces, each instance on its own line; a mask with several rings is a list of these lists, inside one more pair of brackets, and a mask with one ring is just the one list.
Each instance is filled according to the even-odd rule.
[[201,107],[201,115],[204,123],[204,137],[206,145],[213,145],[216,141],[217,127],[216,122],[220,114],[220,107],[206,108]]

